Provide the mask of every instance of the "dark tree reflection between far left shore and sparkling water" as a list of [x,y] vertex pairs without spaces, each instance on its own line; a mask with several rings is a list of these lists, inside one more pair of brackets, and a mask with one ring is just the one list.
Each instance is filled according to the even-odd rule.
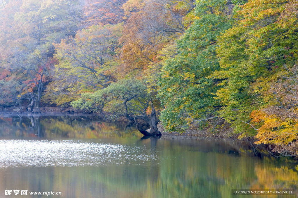
[[113,138],[142,137],[126,122],[108,122],[94,116],[0,117],[0,137],[35,138]]

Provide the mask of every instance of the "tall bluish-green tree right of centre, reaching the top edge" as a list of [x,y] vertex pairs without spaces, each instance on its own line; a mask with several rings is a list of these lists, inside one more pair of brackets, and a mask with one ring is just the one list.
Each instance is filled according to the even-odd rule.
[[218,117],[222,107],[215,93],[222,77],[215,49],[218,36],[231,27],[232,8],[226,1],[197,1],[198,18],[176,41],[177,55],[162,66],[158,97],[165,106],[161,120],[167,130],[181,130],[190,123]]

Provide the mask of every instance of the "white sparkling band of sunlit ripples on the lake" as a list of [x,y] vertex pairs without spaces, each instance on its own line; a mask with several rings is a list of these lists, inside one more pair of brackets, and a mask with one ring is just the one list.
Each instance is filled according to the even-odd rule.
[[0,140],[0,168],[158,163],[146,147],[80,140]]

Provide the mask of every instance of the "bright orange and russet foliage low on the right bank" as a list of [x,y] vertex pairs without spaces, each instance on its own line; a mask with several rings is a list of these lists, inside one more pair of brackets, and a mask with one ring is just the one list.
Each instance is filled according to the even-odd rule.
[[[252,122],[260,125],[257,144],[289,146],[298,139],[298,67],[283,72],[283,77],[271,82],[266,92],[269,102],[262,110],[251,113]],[[289,73],[288,73],[289,72]],[[287,77],[285,77],[287,75]]]

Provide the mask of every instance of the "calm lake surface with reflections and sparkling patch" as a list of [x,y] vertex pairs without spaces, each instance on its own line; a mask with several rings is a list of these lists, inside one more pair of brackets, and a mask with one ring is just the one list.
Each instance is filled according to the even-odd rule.
[[[232,189],[297,189],[298,164],[248,142],[142,139],[86,116],[0,116],[0,197],[220,198]],[[62,195],[4,196],[5,190]],[[243,196],[296,197],[296,196]]]

